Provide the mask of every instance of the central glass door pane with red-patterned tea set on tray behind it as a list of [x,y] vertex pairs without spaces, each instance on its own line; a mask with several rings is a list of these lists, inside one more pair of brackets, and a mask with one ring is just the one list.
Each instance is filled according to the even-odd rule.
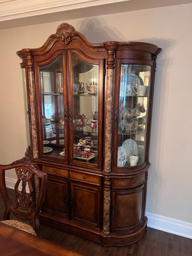
[[70,54],[70,159],[77,164],[79,162],[98,165],[99,161],[101,66],[99,60],[85,58],[74,51]]

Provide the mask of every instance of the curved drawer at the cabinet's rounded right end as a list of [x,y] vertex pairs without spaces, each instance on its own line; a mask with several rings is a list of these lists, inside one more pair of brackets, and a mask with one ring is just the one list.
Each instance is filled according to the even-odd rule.
[[112,180],[113,188],[132,188],[142,184],[145,181],[145,173],[130,178],[114,178]]

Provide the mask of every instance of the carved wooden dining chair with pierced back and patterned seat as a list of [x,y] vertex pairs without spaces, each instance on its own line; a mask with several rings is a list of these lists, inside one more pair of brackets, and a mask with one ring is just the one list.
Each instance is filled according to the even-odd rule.
[[[10,198],[6,188],[5,173],[12,169],[15,169],[17,181],[15,195]],[[0,190],[5,205],[1,222],[39,236],[38,214],[42,209],[46,186],[47,173],[40,171],[38,166],[26,157],[12,164],[0,165]],[[21,221],[10,220],[10,214]],[[32,227],[26,221],[31,222]]]

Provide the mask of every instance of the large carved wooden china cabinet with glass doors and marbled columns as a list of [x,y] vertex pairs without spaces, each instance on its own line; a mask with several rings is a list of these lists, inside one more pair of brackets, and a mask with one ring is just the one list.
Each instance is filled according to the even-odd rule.
[[63,23],[42,47],[17,52],[26,156],[48,173],[42,223],[106,246],[143,236],[160,51],[142,42],[91,44]]

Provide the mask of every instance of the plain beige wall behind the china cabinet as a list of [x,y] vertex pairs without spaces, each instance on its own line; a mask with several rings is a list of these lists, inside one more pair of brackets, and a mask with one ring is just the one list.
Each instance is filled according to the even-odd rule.
[[[192,4],[65,20],[91,42],[143,41],[157,58],[147,211],[192,223]],[[80,12],[78,10],[78,12]],[[40,47],[63,20],[0,30],[0,163],[24,156],[26,129],[20,59]]]

